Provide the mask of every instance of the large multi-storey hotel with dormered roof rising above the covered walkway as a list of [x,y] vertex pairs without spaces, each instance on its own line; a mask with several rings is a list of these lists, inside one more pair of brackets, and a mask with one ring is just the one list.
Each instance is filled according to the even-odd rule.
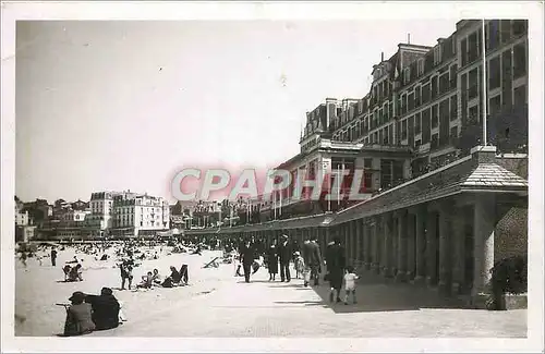
[[[295,200],[293,185],[261,207],[259,221],[336,211],[350,205],[350,173],[364,169],[368,196],[437,169],[470,152],[482,137],[486,103],[488,144],[501,152],[528,145],[528,22],[464,20],[433,47],[400,44],[373,66],[370,93],[327,98],[306,114],[301,151],[278,168],[349,173],[331,203]],[[483,85],[483,42],[486,85]],[[486,87],[486,99],[484,98]],[[347,172],[348,171],[348,172]],[[275,210],[276,209],[276,210]]]

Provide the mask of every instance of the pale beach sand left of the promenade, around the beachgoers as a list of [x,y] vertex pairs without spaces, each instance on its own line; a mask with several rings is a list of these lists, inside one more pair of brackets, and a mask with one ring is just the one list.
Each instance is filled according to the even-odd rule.
[[[143,249],[148,249],[148,247]],[[159,247],[155,247],[155,249],[159,252]],[[140,267],[134,269],[133,286],[141,281],[142,276],[154,268],[159,270],[161,277],[166,277],[170,274],[170,266],[174,266],[179,270],[182,264],[189,266],[190,285],[173,289],[155,288],[137,292],[120,291],[120,270],[116,266],[114,256],[106,261],[100,261],[95,260],[95,256],[76,254],[74,248],[59,251],[57,267],[51,266],[49,258],[44,258],[41,266],[36,258],[28,258],[26,268],[16,259],[15,335],[41,337],[61,333],[65,312],[56,303],[69,303],[68,298],[75,291],[99,294],[102,286],[111,288],[116,297],[123,302],[123,313],[128,320],[134,321],[148,317],[157,318],[161,312],[168,312],[171,305],[177,302],[208,294],[226,281],[232,282],[232,265],[203,269],[206,263],[220,256],[221,252],[203,251],[202,256],[186,253],[166,255],[166,249],[167,247],[159,259],[144,260]],[[38,255],[45,256],[46,254],[38,253]],[[84,259],[82,263],[84,281],[63,282],[62,267],[66,260],[72,260],[74,255],[78,259]]]

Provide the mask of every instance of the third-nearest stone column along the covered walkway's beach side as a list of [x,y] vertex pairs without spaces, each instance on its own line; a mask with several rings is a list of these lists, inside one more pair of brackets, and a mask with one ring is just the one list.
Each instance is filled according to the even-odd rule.
[[450,266],[450,255],[451,255],[451,230],[452,221],[451,216],[456,211],[448,205],[445,200],[441,205],[439,211],[439,283],[438,290],[441,294],[450,293],[450,282],[451,282],[451,266]]

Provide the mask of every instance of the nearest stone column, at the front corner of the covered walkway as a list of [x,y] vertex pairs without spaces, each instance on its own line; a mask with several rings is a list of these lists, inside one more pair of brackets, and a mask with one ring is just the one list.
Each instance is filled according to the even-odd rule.
[[471,295],[474,303],[481,305],[489,293],[489,270],[494,267],[494,230],[496,228],[496,206],[494,196],[475,196],[473,212],[473,289]]

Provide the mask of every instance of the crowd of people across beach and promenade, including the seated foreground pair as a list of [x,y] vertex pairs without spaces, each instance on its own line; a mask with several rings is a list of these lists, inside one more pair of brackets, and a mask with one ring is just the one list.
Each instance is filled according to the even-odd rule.
[[[339,240],[335,239],[326,249],[322,251],[315,237],[308,237],[302,245],[292,242],[288,235],[279,240],[271,240],[266,244],[263,240],[255,239],[211,239],[192,237],[184,240],[169,240],[161,242],[142,241],[113,241],[87,244],[37,244],[17,249],[19,259],[27,267],[27,260],[35,258],[39,265],[49,258],[51,266],[57,267],[59,253],[69,253],[69,258],[61,267],[65,282],[84,281],[83,267],[84,257],[90,261],[104,263],[114,261],[120,272],[120,291],[130,290],[134,292],[150,291],[154,288],[179,288],[189,284],[189,267],[186,264],[174,265],[169,268],[169,276],[161,277],[157,268],[144,270],[141,281],[133,284],[134,269],[141,267],[143,261],[158,259],[172,253],[186,253],[199,256],[203,249],[223,251],[223,263],[234,265],[234,276],[244,277],[246,283],[251,282],[252,274],[259,269],[266,268],[269,281],[276,281],[280,273],[281,282],[292,281],[292,270],[295,279],[303,279],[304,286],[319,285],[320,278],[329,282],[330,302],[341,302],[341,288],[344,280],[346,296],[353,294],[355,302],[355,279],[353,269],[346,264],[344,251]],[[325,255],[323,257],[323,254]],[[80,257],[78,257],[80,256]],[[64,257],[66,259],[66,257]],[[217,258],[205,265],[218,267]],[[324,266],[327,265],[327,272]],[[324,276],[324,277],[322,277]],[[117,328],[126,318],[123,315],[123,304],[119,302],[112,289],[104,286],[99,295],[85,294],[76,291],[69,298],[70,304],[64,306],[66,318],[63,335],[78,335],[95,330],[107,330]]]

